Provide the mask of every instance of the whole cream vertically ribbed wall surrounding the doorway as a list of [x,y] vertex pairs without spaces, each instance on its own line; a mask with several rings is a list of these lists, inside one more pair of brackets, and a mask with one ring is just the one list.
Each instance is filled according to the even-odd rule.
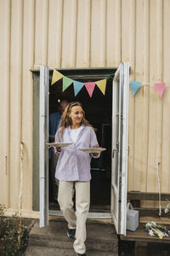
[[[24,143],[22,208],[32,206],[32,77],[49,67],[118,67],[150,83],[129,102],[128,189],[170,192],[170,1],[0,0],[0,202],[17,207],[20,142]],[[153,87],[167,82],[160,100]]]

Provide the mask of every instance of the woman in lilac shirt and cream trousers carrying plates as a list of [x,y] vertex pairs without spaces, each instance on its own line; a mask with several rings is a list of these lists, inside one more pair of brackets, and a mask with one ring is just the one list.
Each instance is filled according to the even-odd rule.
[[[77,256],[86,255],[86,219],[90,205],[90,161],[99,153],[87,154],[79,148],[99,147],[92,125],[84,117],[80,102],[71,102],[61,116],[61,125],[55,135],[58,143],[72,143],[57,148],[59,160],[55,177],[59,180],[59,207],[68,222],[67,236],[75,237]],[[73,191],[76,190],[76,212],[73,209]]]

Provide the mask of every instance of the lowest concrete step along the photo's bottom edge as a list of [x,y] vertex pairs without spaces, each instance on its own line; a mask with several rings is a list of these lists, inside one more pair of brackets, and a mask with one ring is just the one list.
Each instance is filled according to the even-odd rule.
[[[71,249],[61,249],[56,247],[37,247],[30,246],[27,248],[25,256],[76,256],[73,248]],[[90,252],[87,251],[87,256],[117,256],[117,253],[108,252]]]

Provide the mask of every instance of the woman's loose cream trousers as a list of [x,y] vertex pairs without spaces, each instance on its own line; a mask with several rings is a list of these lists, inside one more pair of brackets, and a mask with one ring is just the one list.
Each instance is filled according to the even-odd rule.
[[[76,212],[73,209],[74,183],[76,190]],[[90,182],[59,181],[59,207],[68,222],[69,229],[76,229],[74,249],[76,253],[86,253],[86,219],[90,206]]]

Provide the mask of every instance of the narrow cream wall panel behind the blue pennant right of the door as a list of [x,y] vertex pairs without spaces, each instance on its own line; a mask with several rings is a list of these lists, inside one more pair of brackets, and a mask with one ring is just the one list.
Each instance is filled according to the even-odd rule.
[[[136,44],[135,44],[135,80],[143,81],[143,1],[136,1]],[[135,190],[141,190],[142,147],[143,147],[143,86],[134,98],[134,184]]]

